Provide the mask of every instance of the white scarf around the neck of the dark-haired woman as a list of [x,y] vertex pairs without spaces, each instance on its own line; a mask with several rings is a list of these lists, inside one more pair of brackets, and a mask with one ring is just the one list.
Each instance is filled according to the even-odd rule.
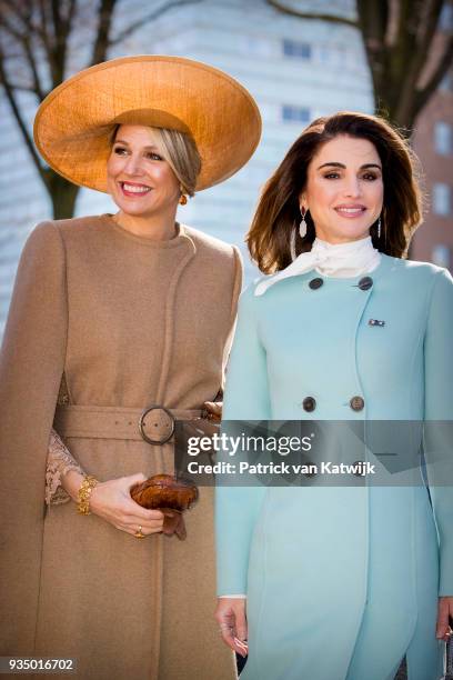
[[373,271],[380,261],[381,253],[373,248],[370,236],[360,239],[360,241],[349,241],[348,243],[328,243],[328,241],[316,238],[309,252],[301,252],[285,269],[261,281],[256,286],[254,294],[262,296],[268,288],[278,281],[298,277],[313,269],[326,277],[338,277],[339,279],[360,277]]

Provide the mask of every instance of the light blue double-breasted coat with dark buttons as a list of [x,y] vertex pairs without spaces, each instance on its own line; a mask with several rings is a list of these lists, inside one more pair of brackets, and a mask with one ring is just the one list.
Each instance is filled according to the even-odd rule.
[[[369,290],[312,271],[242,293],[225,421],[453,420],[453,279],[387,256],[370,276]],[[393,680],[404,654],[410,680],[437,680],[452,489],[431,498],[434,511],[423,484],[219,488],[219,594],[248,594],[241,680]]]

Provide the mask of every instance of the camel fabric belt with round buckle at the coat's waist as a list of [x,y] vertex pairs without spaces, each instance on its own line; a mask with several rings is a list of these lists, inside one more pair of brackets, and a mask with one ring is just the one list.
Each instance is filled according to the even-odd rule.
[[132,439],[162,444],[174,432],[175,420],[202,418],[201,409],[58,406],[53,427],[61,437]]

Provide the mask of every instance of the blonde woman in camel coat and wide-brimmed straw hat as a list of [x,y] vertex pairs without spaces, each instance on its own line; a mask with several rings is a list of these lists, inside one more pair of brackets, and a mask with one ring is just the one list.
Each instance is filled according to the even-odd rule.
[[[76,183],[108,188],[120,211],[34,229],[1,354],[1,653],[73,657],[83,680],[234,677],[211,622],[210,490],[187,513],[185,541],[127,498],[133,482],[173,472],[168,427],[200,418],[222,388],[241,288],[234,247],[174,223],[194,186],[174,173],[174,139],[155,132],[165,126],[185,137],[183,160],[193,140],[190,149],[202,157],[197,189],[235,172],[260,132],[239,83],[179,58],[113,60],[44,101],[41,153]],[[139,431],[155,404],[167,410],[147,414],[144,433],[160,444]],[[52,424],[98,480],[88,517],[72,501],[44,511]]]

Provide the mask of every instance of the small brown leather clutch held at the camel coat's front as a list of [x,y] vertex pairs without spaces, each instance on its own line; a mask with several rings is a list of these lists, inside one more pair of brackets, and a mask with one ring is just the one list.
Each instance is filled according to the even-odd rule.
[[154,474],[131,488],[132,499],[148,510],[171,508],[183,512],[198,499],[198,489],[191,482],[171,474]]

